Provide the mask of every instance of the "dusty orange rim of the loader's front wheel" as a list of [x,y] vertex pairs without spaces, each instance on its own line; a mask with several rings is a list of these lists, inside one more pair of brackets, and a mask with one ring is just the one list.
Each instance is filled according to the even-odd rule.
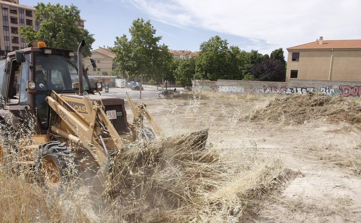
[[45,185],[56,188],[60,180],[59,170],[51,158],[44,158],[42,162],[42,177]]

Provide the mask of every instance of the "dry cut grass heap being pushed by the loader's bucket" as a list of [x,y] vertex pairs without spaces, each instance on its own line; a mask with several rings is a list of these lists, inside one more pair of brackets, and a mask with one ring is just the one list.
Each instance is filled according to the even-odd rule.
[[239,222],[291,173],[254,151],[199,147],[194,134],[138,142],[119,152],[108,182],[119,222]]

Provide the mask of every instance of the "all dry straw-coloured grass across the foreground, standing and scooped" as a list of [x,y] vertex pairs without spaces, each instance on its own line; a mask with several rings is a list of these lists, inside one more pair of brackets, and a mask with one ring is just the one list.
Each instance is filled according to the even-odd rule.
[[[197,112],[199,100],[194,100],[189,115]],[[33,134],[19,128],[21,140],[11,140],[8,166],[0,170],[0,222],[242,221],[257,214],[262,198],[277,191],[291,173],[279,159],[258,156],[256,145],[228,143],[236,120],[238,116],[224,124],[229,135],[212,132],[219,137],[205,147],[195,143],[194,134],[127,146],[114,157],[107,193],[96,198],[89,188],[73,184],[58,196],[40,187],[31,170],[18,168],[24,160],[18,148],[31,145]]]

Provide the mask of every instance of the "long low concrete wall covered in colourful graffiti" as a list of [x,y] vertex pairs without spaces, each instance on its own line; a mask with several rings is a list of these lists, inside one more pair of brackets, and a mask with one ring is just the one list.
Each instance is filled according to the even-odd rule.
[[290,82],[266,81],[235,81],[193,80],[193,87],[200,91],[229,92],[235,94],[306,94],[308,91],[318,91],[329,96],[360,97],[361,81],[324,81],[300,80],[291,78]]

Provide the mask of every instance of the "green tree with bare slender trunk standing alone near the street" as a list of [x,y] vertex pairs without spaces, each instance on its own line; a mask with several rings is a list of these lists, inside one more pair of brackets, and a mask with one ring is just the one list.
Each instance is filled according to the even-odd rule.
[[118,63],[116,70],[128,72],[129,77],[140,76],[139,98],[142,98],[143,76],[148,79],[165,75],[171,60],[168,46],[158,45],[161,36],[155,36],[156,29],[151,22],[138,18],[129,28],[131,38],[126,35],[116,37],[111,51],[115,53],[113,62]]

